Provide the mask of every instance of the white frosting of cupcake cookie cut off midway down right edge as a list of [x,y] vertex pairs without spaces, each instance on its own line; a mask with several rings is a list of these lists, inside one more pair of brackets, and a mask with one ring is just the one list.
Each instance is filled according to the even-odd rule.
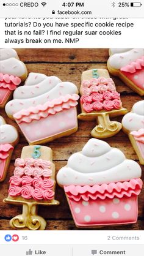
[[134,104],[132,111],[123,117],[122,124],[129,131],[144,129],[144,100]]

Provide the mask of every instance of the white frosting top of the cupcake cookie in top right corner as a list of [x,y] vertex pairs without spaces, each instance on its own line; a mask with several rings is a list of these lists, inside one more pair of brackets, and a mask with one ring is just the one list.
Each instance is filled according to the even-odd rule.
[[121,69],[121,67],[130,64],[132,61],[136,61],[136,59],[139,59],[143,55],[144,49],[131,49],[129,51],[110,55],[108,63],[110,67],[113,67],[114,69]]

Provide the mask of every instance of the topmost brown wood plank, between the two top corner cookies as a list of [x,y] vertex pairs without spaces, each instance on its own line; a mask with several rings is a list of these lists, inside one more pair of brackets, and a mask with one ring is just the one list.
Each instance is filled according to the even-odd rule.
[[108,49],[15,49],[24,62],[107,62]]

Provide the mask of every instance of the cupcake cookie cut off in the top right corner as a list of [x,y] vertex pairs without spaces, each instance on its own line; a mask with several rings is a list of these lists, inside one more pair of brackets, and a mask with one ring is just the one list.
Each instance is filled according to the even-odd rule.
[[[121,49],[123,50],[123,49]],[[132,90],[144,95],[144,49],[110,50],[107,68]]]

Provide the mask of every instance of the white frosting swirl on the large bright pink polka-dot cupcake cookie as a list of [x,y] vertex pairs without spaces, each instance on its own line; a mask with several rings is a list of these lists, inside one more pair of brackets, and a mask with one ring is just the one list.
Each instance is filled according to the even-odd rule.
[[81,152],[68,159],[60,169],[57,182],[62,186],[117,183],[139,178],[141,168],[137,162],[126,159],[123,152],[111,148],[105,141],[92,138]]

